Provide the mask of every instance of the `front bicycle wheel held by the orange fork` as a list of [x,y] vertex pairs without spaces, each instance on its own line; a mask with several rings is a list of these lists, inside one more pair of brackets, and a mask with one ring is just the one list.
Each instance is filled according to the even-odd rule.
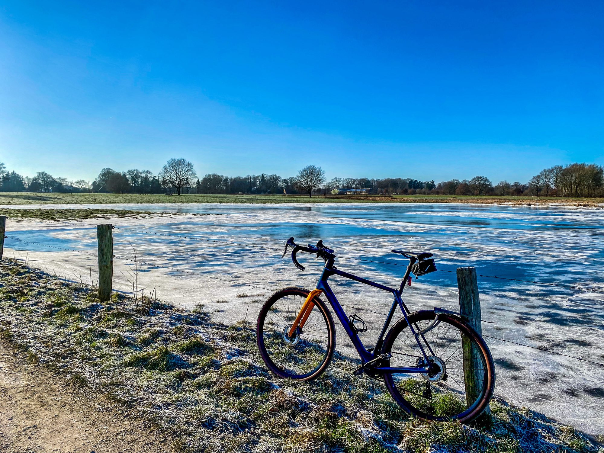
[[336,335],[332,315],[320,298],[301,332],[290,337],[289,329],[310,291],[284,288],[271,295],[260,310],[256,340],[266,366],[280,377],[308,381],[329,366]]

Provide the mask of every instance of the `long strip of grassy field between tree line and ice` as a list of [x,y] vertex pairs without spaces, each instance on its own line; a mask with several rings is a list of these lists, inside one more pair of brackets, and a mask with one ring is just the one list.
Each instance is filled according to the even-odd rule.
[[457,195],[397,195],[397,196],[347,196],[328,195],[326,198],[303,195],[138,195],[117,193],[0,193],[0,205],[16,204],[115,204],[115,203],[342,203],[342,202],[405,202],[405,203],[487,203],[534,205],[564,203],[569,205],[595,206],[604,204],[602,198],[555,198],[515,196],[457,196]]

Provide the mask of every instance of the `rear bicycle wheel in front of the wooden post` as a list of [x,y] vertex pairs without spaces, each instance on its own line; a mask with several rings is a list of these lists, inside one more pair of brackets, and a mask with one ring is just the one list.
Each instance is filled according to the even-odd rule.
[[[434,321],[433,310],[411,313],[416,332]],[[440,323],[420,336],[428,363],[409,324],[398,321],[384,340],[391,367],[428,365],[428,373],[385,374],[388,391],[406,412],[427,420],[468,423],[489,404],[495,390],[495,366],[484,339],[453,315],[439,315]]]

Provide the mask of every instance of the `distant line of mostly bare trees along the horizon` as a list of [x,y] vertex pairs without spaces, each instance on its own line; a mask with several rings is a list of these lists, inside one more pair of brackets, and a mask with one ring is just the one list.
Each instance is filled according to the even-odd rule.
[[296,176],[224,176],[208,173],[198,178],[193,164],[185,159],[170,159],[154,175],[150,170],[119,172],[101,170],[94,181],[68,181],[47,172],[33,178],[8,171],[0,162],[0,191],[91,192],[91,193],[203,193],[203,194],[330,194],[341,189],[365,189],[374,194],[515,195],[598,197],[604,196],[604,169],[600,165],[574,163],[554,165],[528,182],[500,181],[493,184],[486,176],[434,182],[413,178],[332,178],[327,181],[321,167],[307,165]]

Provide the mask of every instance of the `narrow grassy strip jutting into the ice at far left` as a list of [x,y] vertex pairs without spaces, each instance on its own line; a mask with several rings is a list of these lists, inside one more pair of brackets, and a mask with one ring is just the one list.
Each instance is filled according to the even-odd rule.
[[[6,209],[0,208],[0,216],[21,222],[23,220],[48,220],[61,222],[64,220],[83,219],[144,219],[149,216],[178,216],[178,213],[158,213],[150,211],[127,211],[120,209]],[[201,216],[205,214],[190,214]]]

